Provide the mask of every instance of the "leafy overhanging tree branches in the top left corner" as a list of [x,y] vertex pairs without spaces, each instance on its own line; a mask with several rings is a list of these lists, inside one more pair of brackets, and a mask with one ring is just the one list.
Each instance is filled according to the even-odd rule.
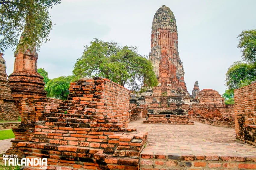
[[[52,21],[49,8],[61,0],[0,0],[0,52],[47,42]],[[23,31],[23,38],[18,40]]]

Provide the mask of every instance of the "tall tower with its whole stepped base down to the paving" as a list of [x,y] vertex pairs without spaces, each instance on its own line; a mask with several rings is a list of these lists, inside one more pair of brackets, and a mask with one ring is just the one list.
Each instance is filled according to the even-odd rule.
[[157,10],[153,18],[149,60],[153,64],[158,85],[139,94],[136,100],[131,99],[131,103],[148,110],[148,113],[142,113],[142,117],[148,118],[145,123],[193,124],[186,115],[191,97],[178,52],[176,20],[165,5]]

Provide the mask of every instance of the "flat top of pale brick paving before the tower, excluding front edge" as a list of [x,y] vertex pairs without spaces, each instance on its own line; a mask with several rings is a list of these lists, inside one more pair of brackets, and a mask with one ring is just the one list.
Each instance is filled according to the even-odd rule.
[[255,157],[256,147],[235,139],[235,129],[194,122],[194,125],[129,123],[129,128],[148,132],[148,144],[142,151],[175,155],[218,155]]

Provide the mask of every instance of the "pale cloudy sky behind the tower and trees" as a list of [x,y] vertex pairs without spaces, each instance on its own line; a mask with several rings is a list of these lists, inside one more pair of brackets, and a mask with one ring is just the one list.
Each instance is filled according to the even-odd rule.
[[[189,93],[194,82],[200,90],[223,94],[225,73],[241,58],[236,38],[242,30],[256,28],[254,0],[62,0],[50,10],[55,23],[50,41],[38,52],[38,68],[49,78],[72,74],[84,45],[96,37],[150,52],[151,25],[162,5],[173,11],[180,58]],[[14,55],[5,51],[7,74],[13,72]]]

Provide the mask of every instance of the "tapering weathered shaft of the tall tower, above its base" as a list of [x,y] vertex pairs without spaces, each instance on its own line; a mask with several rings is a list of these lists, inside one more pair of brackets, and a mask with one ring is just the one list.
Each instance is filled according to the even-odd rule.
[[[151,53],[149,60],[154,66],[154,72],[158,82],[172,84],[173,87],[181,88],[188,92],[184,82],[184,68],[178,52],[178,34],[176,20],[170,8],[163,5],[154,15],[151,32]],[[163,51],[166,52],[166,59],[162,60]],[[167,73],[162,73],[162,65],[168,64]],[[166,70],[165,70],[166,72]],[[168,75],[168,77],[166,77]],[[164,77],[163,77],[164,76]]]

